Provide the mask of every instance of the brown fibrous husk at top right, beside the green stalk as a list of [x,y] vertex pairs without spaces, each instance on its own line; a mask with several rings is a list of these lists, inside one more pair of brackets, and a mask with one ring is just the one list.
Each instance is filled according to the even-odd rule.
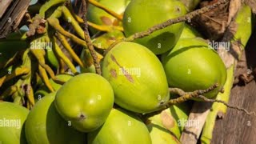
[[[218,2],[218,0],[204,1],[200,3],[200,7],[212,5],[215,2]],[[218,6],[205,14],[193,18],[192,24],[200,30],[206,38],[214,41],[221,39],[241,5],[241,0],[230,0],[226,5]]]

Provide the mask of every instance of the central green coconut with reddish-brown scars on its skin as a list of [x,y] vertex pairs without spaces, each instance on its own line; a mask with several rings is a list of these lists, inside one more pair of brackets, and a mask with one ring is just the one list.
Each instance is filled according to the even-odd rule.
[[106,54],[102,76],[113,87],[114,102],[126,110],[150,113],[170,98],[161,62],[146,47],[134,42],[118,43]]

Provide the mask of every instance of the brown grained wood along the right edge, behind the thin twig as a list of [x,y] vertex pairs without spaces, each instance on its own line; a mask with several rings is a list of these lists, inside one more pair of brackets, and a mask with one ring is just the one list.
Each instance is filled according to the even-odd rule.
[[[256,26],[255,26],[256,27]],[[236,75],[256,67],[256,30],[246,46],[242,61],[238,62]],[[234,86],[231,90],[231,105],[256,111],[256,82],[246,86]],[[227,110],[225,118],[218,119],[214,127],[213,144],[256,144],[256,116],[248,116],[238,110]]]

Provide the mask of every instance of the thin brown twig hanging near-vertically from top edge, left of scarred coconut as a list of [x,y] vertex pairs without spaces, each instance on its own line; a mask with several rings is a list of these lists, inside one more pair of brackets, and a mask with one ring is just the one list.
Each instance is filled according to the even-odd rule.
[[82,12],[83,12],[83,29],[84,29],[84,35],[85,35],[85,41],[86,41],[86,44],[90,50],[90,54],[92,55],[93,59],[94,59],[94,66],[95,66],[95,69],[96,69],[96,73],[97,74],[102,74],[102,70],[101,70],[101,66],[99,65],[99,62],[98,62],[98,56],[94,50],[94,46],[91,42],[91,39],[90,39],[90,34],[89,34],[89,31],[88,31],[88,24],[87,24],[87,19],[86,19],[86,14],[87,14],[87,6],[86,6],[86,0],[82,0]]

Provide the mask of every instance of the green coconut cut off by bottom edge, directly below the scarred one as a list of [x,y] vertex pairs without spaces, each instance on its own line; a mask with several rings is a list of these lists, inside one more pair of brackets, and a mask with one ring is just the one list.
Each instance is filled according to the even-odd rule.
[[104,125],[88,135],[88,144],[151,144],[146,125],[135,114],[112,109]]

